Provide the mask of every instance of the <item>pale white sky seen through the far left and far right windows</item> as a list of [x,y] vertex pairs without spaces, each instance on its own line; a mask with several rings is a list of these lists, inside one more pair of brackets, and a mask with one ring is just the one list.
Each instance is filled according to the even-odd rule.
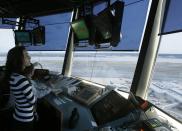
[[[0,29],[0,52],[7,52],[14,46],[14,43],[13,31]],[[163,36],[159,52],[182,54],[182,33]]]

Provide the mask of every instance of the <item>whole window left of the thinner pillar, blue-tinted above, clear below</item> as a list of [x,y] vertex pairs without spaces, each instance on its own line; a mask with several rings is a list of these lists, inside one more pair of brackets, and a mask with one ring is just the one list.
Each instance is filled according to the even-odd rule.
[[[44,69],[61,72],[67,37],[70,26],[71,13],[42,16],[40,25],[45,26],[45,45],[29,46],[32,62],[39,62]],[[27,25],[31,28],[31,25]],[[41,68],[41,67],[36,67]]]

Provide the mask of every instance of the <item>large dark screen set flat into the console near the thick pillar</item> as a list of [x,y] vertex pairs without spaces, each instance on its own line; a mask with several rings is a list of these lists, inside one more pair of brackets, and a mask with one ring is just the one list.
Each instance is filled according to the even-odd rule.
[[132,103],[118,94],[109,92],[91,107],[92,115],[98,125],[119,119],[134,108]]

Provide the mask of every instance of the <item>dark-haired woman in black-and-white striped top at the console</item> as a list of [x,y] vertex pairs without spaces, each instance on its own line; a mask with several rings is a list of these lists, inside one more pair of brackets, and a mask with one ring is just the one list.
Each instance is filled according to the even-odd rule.
[[25,47],[16,46],[7,55],[6,78],[15,97],[13,131],[33,131],[35,96],[29,78],[24,74],[30,66],[30,56]]

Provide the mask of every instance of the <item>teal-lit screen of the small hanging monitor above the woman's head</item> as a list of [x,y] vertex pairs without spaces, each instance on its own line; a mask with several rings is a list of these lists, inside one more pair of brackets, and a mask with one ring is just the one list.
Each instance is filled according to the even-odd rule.
[[31,32],[27,30],[15,30],[16,43],[32,43]]

